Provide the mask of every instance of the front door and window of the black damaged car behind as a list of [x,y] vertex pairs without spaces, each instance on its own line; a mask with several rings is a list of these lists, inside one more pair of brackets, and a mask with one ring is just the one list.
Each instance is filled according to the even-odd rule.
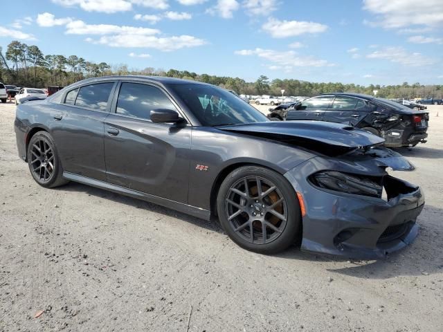
[[318,97],[303,100],[296,109],[287,113],[286,120],[323,120],[325,110],[329,108],[333,95],[319,95]]

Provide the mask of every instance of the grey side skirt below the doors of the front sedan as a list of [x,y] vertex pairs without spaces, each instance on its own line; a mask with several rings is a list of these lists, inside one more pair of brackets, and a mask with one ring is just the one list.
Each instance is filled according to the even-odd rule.
[[63,172],[63,177],[70,181],[75,181],[78,183],[83,183],[84,185],[91,185],[92,187],[109,190],[110,192],[115,192],[117,194],[134,197],[134,199],[141,199],[150,203],[162,205],[165,208],[170,208],[172,210],[190,214],[191,216],[197,216],[197,218],[210,220],[210,211],[197,208],[192,205],[179,203],[177,201],[171,201],[170,199],[163,199],[159,196],[145,194],[144,192],[138,192],[129,188],[120,187],[119,185],[113,185],[112,183],[95,180],[93,178],[88,178],[87,176],[81,176],[69,172]]

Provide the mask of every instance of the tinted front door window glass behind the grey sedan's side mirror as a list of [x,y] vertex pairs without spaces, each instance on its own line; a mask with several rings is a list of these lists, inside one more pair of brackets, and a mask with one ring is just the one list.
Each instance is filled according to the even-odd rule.
[[117,114],[150,120],[152,109],[177,110],[165,93],[155,86],[122,83],[117,100]]

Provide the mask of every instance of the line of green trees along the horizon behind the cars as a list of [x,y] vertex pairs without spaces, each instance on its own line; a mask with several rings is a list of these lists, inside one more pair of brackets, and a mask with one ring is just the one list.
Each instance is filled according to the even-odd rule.
[[177,77],[221,86],[245,95],[317,95],[331,92],[354,92],[377,95],[383,98],[443,98],[443,85],[423,85],[404,82],[398,85],[362,86],[339,82],[306,82],[295,79],[275,79],[261,75],[255,82],[246,82],[239,77],[197,74],[190,71],[146,67],[129,69],[126,64],[109,65],[106,62],[89,62],[78,55],[44,55],[35,45],[13,41],[6,53],[0,47],[0,82],[17,86],[44,88],[49,85],[66,86],[88,77],[104,75],[154,75]]

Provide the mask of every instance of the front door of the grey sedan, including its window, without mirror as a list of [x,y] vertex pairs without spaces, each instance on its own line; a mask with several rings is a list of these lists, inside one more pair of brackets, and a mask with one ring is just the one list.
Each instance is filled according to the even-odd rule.
[[192,127],[150,120],[152,109],[181,113],[160,86],[140,81],[119,85],[105,122],[107,181],[187,203]]

